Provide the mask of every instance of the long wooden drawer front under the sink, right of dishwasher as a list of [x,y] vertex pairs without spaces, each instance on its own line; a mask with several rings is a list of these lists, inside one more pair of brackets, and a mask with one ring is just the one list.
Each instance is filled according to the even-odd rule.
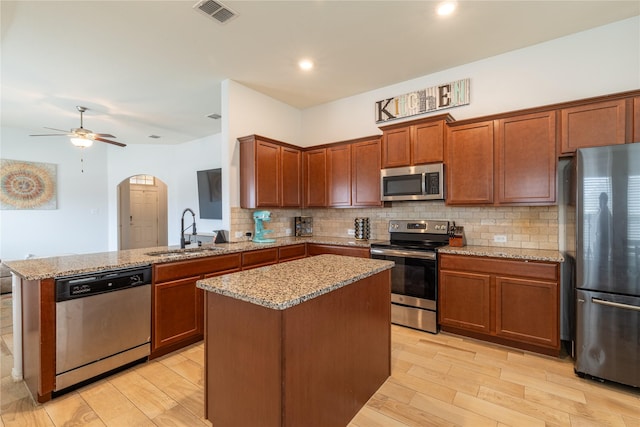
[[153,267],[154,283],[198,276],[240,268],[240,254],[210,256],[185,261],[156,264]]

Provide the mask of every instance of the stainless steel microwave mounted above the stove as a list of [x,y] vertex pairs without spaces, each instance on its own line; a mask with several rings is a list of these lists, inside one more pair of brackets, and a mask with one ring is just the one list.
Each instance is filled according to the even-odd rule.
[[444,200],[444,165],[382,169],[380,195],[382,201]]

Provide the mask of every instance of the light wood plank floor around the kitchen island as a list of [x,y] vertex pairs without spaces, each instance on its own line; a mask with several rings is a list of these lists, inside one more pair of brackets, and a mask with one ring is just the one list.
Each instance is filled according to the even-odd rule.
[[[202,344],[35,405],[11,380],[10,301],[0,313],[0,426],[211,426]],[[392,341],[391,378],[349,427],[640,427],[639,390],[580,379],[568,358],[398,326]]]

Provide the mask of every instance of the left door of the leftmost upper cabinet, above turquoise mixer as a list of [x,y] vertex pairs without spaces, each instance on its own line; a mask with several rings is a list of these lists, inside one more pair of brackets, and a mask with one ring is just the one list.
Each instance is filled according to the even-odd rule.
[[280,146],[256,141],[256,207],[280,206]]

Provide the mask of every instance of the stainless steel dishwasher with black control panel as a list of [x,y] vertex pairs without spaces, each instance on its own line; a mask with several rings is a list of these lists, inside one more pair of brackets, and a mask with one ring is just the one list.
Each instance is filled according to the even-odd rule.
[[151,267],[61,277],[55,286],[54,391],[149,356]]

